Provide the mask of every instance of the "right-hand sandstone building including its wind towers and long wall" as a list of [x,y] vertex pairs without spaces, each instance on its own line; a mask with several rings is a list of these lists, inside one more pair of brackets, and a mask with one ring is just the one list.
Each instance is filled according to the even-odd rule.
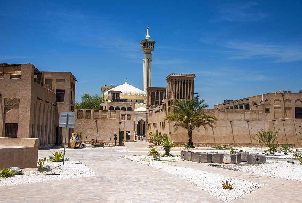
[[[173,112],[176,99],[191,99],[194,93],[194,74],[170,74],[167,88],[147,89],[147,140],[149,132],[166,133],[178,146],[188,142],[185,129],[174,131],[174,123],[164,121]],[[165,98],[165,94],[167,97]],[[240,100],[226,100],[214,109],[204,109],[218,118],[213,128],[200,128],[193,132],[194,146],[255,146],[252,139],[261,129],[281,129],[279,144],[302,146],[302,93],[267,93]]]

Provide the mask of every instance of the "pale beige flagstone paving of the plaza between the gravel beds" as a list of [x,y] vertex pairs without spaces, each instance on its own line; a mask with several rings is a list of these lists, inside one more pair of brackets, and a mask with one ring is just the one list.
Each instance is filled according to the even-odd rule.
[[[66,157],[81,161],[99,176],[0,187],[1,201],[221,202],[182,178],[120,157],[142,153],[115,152],[118,149],[147,148],[148,143],[139,141],[125,145],[119,148],[67,150]],[[41,149],[39,156],[48,158],[50,151],[54,150]],[[266,184],[233,202],[298,202],[302,195],[299,181],[264,176],[253,178],[251,174],[191,161],[171,164]]]

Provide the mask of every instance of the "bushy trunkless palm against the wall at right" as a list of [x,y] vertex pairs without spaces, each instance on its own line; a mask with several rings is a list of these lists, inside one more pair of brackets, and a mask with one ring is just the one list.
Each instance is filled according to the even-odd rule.
[[274,153],[278,147],[277,137],[278,133],[280,132],[280,128],[275,131],[268,128],[268,130],[261,130],[258,131],[256,134],[257,137],[253,137],[254,140],[258,141],[259,143],[263,144],[266,149],[269,151],[270,154]]

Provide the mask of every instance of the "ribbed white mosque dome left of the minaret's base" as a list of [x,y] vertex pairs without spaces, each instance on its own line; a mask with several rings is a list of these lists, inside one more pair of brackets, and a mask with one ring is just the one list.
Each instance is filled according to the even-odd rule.
[[[127,82],[125,82],[122,85],[119,85],[115,88],[112,88],[111,90],[121,91],[120,98],[121,99],[127,99],[129,102],[143,102],[146,100],[147,93],[132,86],[129,85]],[[109,90],[108,90],[109,91]],[[104,97],[108,97],[109,93],[108,91],[104,92]]]

